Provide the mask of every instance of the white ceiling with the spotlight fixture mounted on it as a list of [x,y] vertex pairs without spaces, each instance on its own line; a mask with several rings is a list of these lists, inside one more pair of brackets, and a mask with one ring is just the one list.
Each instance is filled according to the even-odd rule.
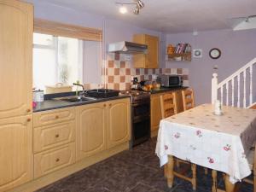
[[[34,2],[42,0],[33,0]],[[133,0],[44,0],[62,7],[124,20],[136,26],[160,32],[193,32],[232,28],[231,18],[256,15],[256,0],[143,0],[140,15],[133,15],[133,5],[121,15],[115,2]]]

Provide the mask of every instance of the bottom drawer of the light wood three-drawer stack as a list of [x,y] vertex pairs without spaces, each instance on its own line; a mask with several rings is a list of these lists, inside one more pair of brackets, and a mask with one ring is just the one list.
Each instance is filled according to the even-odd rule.
[[49,172],[55,172],[75,162],[75,143],[60,148],[34,154],[34,177],[38,178]]

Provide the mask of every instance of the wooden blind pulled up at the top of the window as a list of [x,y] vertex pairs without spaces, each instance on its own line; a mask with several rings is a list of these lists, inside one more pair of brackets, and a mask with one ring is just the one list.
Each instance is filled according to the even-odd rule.
[[34,20],[34,32],[86,41],[102,41],[102,30],[84,26],[74,26],[51,20]]

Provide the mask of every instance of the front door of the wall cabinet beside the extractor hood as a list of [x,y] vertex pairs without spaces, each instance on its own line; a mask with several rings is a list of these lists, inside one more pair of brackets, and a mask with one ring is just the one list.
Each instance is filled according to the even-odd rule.
[[148,44],[148,55],[146,55],[145,68],[158,67],[158,43],[157,37],[146,35],[146,44]]

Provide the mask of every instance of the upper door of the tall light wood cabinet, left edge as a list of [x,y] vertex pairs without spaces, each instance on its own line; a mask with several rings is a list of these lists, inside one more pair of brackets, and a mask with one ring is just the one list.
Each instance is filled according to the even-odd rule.
[[32,5],[0,0],[0,119],[32,113]]

